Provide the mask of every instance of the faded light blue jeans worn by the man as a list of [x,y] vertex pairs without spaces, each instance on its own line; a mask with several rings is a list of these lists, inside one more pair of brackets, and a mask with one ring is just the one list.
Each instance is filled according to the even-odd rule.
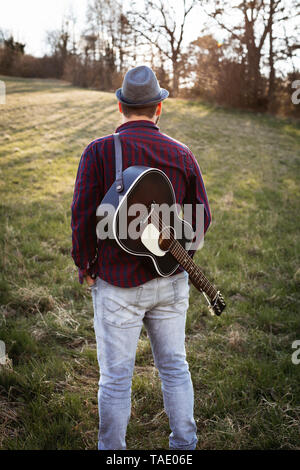
[[143,323],[162,382],[170,449],[195,449],[194,393],[185,352],[187,273],[130,288],[97,278],[91,290],[100,366],[98,449],[126,449],[131,381]]

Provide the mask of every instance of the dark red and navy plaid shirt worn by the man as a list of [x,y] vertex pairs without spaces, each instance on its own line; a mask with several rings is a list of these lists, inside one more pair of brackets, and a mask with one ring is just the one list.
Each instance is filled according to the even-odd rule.
[[[132,165],[143,165],[164,171],[173,185],[177,204],[189,202],[194,207],[204,204],[206,231],[210,223],[209,205],[199,166],[188,147],[161,133],[150,120],[129,121],[119,126],[116,132],[119,132],[121,140],[123,170]],[[117,244],[96,239],[96,208],[114,182],[114,155],[112,135],[91,142],[83,152],[72,203],[72,256],[77,266],[84,267],[95,257],[98,245],[93,272],[110,284],[133,287],[157,277],[157,274],[149,270],[140,257],[126,253]],[[81,230],[76,230],[76,224]],[[195,226],[193,228],[196,229]],[[85,249],[82,249],[83,238],[88,241]],[[180,271],[182,268],[178,268],[176,273]]]

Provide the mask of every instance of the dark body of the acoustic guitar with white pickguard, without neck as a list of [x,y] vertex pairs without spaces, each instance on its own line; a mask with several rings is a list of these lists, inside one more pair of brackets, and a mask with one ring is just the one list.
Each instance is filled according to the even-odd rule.
[[[123,191],[117,193],[115,183],[113,183],[99,206],[102,210],[106,205],[108,208],[113,206],[115,209],[109,214],[107,221],[110,238],[113,234],[115,242],[127,253],[150,258],[160,276],[170,276],[176,271],[179,263],[171,253],[160,248],[160,232],[154,224],[151,224],[153,204],[176,208],[174,189],[169,178],[163,171],[156,168],[132,166],[123,172],[123,184]],[[132,209],[137,205],[142,205],[147,210],[144,213],[134,211],[131,214]],[[133,239],[130,236],[130,224],[139,216],[140,224],[135,224],[135,227],[138,225],[140,236]],[[97,219],[101,221],[98,211]],[[194,237],[193,229],[190,224],[179,217],[177,210],[171,211],[168,226],[171,227],[181,246],[188,250]],[[177,237],[177,233],[180,233],[181,237]]]

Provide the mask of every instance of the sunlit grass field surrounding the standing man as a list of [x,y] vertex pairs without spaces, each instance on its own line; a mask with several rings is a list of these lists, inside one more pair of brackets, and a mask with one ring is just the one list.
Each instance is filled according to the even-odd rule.
[[[70,256],[84,147],[119,124],[111,93],[2,77],[0,365],[2,449],[95,449],[98,365],[91,295]],[[191,289],[187,354],[198,449],[300,449],[300,128],[200,102],[166,101],[160,127],[198,157],[213,224],[196,255],[227,310]],[[300,358],[300,354],[299,354]],[[129,449],[168,448],[143,331]]]

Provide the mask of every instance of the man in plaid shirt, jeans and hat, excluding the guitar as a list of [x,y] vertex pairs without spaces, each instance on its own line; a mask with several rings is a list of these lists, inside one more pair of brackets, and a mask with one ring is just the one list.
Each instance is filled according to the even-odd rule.
[[[168,91],[146,66],[127,72],[116,91],[123,124],[123,169],[157,167],[170,178],[176,202],[204,205],[204,232],[211,216],[197,161],[184,144],[157,127]],[[131,380],[142,325],[150,338],[162,381],[171,428],[171,449],[195,449],[193,385],[185,353],[188,275],[179,268],[159,277],[141,257],[96,237],[96,209],[115,179],[113,136],[91,142],[82,154],[72,209],[72,256],[80,283],[91,286],[100,366],[98,449],[126,449],[131,410]],[[196,230],[196,227],[193,227]]]

